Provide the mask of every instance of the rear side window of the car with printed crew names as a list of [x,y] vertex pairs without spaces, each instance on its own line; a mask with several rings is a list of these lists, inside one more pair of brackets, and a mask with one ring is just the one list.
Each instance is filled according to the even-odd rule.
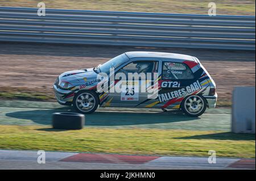
[[163,62],[162,79],[193,79],[191,69],[183,64],[176,62]]

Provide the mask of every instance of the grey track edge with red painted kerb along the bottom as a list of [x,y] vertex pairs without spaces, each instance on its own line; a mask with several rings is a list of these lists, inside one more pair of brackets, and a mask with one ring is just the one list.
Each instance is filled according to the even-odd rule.
[[255,159],[207,157],[152,157],[46,151],[38,163],[37,151],[0,150],[0,169],[255,169]]

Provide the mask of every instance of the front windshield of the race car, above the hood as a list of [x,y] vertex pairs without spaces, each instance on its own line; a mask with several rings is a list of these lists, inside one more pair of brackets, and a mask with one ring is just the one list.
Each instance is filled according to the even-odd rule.
[[116,69],[116,68],[118,68],[118,66],[122,65],[123,63],[125,63],[128,60],[129,60],[129,58],[126,56],[125,53],[123,53],[123,54],[120,54],[117,57],[112,58],[111,60],[109,60],[105,64],[97,66],[95,68],[95,70],[99,73],[102,72],[102,73],[109,74],[109,71],[110,71],[109,69],[110,68]]

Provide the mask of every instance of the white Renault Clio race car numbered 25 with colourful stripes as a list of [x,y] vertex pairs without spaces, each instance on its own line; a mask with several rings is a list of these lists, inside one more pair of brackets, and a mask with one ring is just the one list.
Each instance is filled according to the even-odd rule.
[[[99,91],[101,73],[157,74],[145,81],[114,77],[107,91]],[[129,76],[128,76],[129,77]],[[105,79],[106,81],[106,79]],[[157,95],[149,98],[150,89],[157,84]],[[113,86],[129,86],[119,92]],[[135,91],[134,86],[146,86]],[[138,107],[181,109],[189,116],[200,116],[206,108],[216,107],[216,84],[196,57],[162,52],[126,52],[95,68],[67,71],[53,85],[57,102],[71,106],[80,113],[92,113],[100,107]],[[109,90],[109,91],[108,91]]]

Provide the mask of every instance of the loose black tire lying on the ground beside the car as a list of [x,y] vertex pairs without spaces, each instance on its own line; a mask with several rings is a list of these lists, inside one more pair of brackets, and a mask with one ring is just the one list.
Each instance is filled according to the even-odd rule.
[[54,129],[82,129],[85,116],[75,112],[56,112],[52,114],[52,127]]

